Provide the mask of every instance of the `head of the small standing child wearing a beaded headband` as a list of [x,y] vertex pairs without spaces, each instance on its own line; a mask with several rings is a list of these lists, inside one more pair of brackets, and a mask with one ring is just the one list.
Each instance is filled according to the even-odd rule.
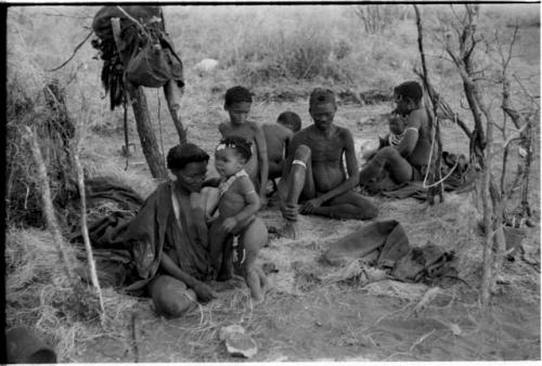
[[228,136],[220,140],[215,151],[215,166],[220,177],[231,177],[250,159],[250,142],[240,136]]

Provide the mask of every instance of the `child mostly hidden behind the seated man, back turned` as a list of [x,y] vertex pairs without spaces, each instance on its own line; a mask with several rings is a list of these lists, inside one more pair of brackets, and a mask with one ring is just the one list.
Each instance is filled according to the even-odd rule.
[[276,123],[266,123],[262,127],[268,144],[269,179],[276,189],[276,178],[282,175],[283,162],[288,144],[294,133],[301,129],[301,119],[296,113],[286,110],[279,115]]

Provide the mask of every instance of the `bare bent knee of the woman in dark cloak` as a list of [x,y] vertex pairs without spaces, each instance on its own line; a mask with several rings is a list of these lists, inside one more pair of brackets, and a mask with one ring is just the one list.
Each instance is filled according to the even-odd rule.
[[179,279],[162,275],[151,283],[151,297],[156,313],[179,317],[196,304],[196,295]]

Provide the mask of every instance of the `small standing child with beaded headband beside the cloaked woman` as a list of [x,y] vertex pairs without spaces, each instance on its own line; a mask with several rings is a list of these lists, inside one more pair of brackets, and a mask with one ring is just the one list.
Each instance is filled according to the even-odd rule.
[[[209,230],[210,266],[212,275],[218,273],[218,280],[227,280],[232,277],[234,265],[250,288],[253,301],[260,303],[268,280],[256,265],[256,258],[268,241],[268,231],[256,217],[259,195],[244,170],[250,157],[250,143],[240,136],[222,139],[216,148],[215,164],[221,182],[218,202],[210,208],[210,215],[216,209],[219,213]],[[234,248],[233,236],[238,237]]]

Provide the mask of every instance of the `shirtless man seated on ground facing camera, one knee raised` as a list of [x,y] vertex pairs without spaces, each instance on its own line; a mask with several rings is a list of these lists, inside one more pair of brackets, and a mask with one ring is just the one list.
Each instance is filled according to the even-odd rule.
[[[335,126],[337,106],[331,90],[317,88],[310,94],[313,125],[294,135],[279,184],[282,215],[286,225],[279,235],[295,238],[298,211],[333,219],[373,219],[376,207],[352,191],[359,168],[352,134]],[[346,158],[346,171],[343,164]],[[347,174],[348,173],[348,174]],[[299,208],[298,202],[302,205]]]

